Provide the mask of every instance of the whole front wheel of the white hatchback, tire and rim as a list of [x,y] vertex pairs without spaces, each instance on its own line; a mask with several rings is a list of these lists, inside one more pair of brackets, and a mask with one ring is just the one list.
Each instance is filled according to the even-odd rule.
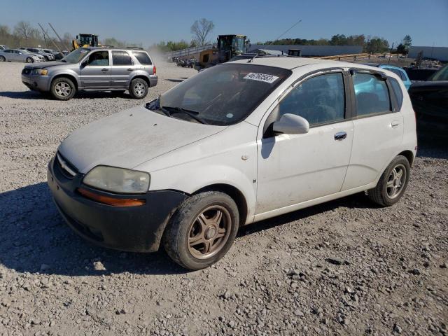
[[208,191],[188,198],[176,211],[163,235],[165,251],[187,269],[214,264],[229,251],[239,227],[232,197]]

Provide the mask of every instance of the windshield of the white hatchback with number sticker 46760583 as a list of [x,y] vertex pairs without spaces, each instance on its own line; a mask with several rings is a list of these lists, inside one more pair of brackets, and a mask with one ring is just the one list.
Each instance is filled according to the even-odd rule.
[[183,81],[146,107],[192,122],[233,125],[252,113],[291,73],[274,66],[221,64]]

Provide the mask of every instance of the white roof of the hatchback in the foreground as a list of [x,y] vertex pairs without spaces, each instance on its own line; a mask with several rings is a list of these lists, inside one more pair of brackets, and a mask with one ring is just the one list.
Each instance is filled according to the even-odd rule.
[[[247,59],[241,59],[237,61],[232,61],[229,63],[247,63]],[[354,64],[349,62],[332,61],[330,59],[318,59],[311,57],[255,57],[251,64],[265,65],[265,66],[276,66],[277,68],[283,69],[295,69],[299,66],[319,64],[322,68],[361,68],[361,69],[372,69],[372,66],[366,66],[364,64]],[[377,69],[376,69],[377,70]]]

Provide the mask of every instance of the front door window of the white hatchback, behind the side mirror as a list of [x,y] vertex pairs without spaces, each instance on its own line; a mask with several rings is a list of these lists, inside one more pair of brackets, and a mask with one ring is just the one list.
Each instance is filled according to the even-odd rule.
[[279,103],[279,120],[291,113],[308,120],[309,125],[344,120],[345,90],[342,73],[327,73],[305,80]]

